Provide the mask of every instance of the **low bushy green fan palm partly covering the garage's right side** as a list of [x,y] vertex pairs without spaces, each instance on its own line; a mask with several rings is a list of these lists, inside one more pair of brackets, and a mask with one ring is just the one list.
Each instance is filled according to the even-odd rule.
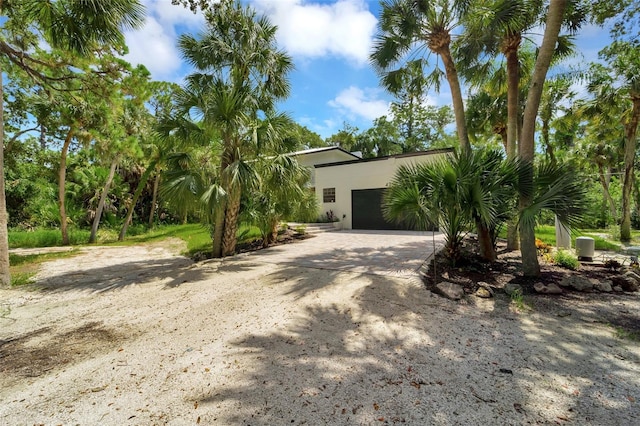
[[454,261],[462,238],[475,225],[480,255],[494,261],[497,231],[515,214],[519,171],[517,161],[504,161],[495,149],[403,167],[385,194],[384,213],[390,220],[422,228],[428,223],[440,226],[446,253]]

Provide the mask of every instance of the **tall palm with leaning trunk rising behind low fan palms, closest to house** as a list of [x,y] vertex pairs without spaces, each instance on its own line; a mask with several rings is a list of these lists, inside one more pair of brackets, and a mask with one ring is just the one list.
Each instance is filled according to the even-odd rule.
[[[384,0],[381,4],[379,33],[370,60],[381,75],[382,84],[392,93],[397,93],[406,82],[407,74],[413,72],[410,70],[421,70],[427,65],[428,54],[423,54],[425,47],[438,55],[451,89],[460,147],[463,151],[468,151],[470,145],[464,101],[458,70],[451,54],[451,38],[470,3],[449,0]],[[398,67],[407,57],[409,60],[404,66]],[[419,58],[411,59],[416,57]],[[439,89],[442,74],[443,71],[436,67],[426,78],[427,83]]]

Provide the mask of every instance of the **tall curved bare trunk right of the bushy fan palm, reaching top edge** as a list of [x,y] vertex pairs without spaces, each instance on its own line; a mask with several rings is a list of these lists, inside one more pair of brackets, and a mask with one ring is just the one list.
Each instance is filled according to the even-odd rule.
[[[538,58],[533,70],[527,103],[524,109],[522,135],[518,144],[518,152],[523,162],[533,166],[535,152],[535,131],[536,117],[542,97],[542,89],[547,71],[551,64],[551,59],[556,48],[560,27],[567,8],[567,0],[551,0],[547,12],[546,28],[542,45],[538,51]],[[533,178],[533,167],[529,169],[529,178]],[[520,208],[524,209],[531,205],[533,200],[530,196],[520,197]],[[520,226],[520,247],[522,250],[522,270],[525,276],[539,276],[540,264],[538,263],[538,253],[536,250],[536,239],[533,224]]]

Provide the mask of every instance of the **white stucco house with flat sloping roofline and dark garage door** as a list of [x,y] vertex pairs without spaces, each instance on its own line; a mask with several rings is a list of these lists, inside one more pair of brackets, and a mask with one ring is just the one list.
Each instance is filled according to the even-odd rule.
[[292,153],[312,168],[311,187],[318,215],[328,211],[342,220],[343,229],[403,229],[382,216],[382,195],[401,165],[421,164],[448,155],[453,149],[363,159],[340,147],[314,148]]

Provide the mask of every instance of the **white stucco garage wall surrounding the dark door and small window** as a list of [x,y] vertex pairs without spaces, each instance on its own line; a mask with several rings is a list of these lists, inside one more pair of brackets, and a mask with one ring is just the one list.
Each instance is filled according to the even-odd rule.
[[[432,153],[408,157],[389,157],[382,160],[362,161],[351,164],[336,164],[327,167],[318,167],[316,171],[316,199],[320,209],[319,214],[324,215],[329,210],[342,220],[343,229],[351,229],[351,191],[354,189],[386,188],[396,170],[401,165],[421,164],[434,161],[446,153]],[[335,203],[324,203],[322,199],[323,188],[336,189]]]

